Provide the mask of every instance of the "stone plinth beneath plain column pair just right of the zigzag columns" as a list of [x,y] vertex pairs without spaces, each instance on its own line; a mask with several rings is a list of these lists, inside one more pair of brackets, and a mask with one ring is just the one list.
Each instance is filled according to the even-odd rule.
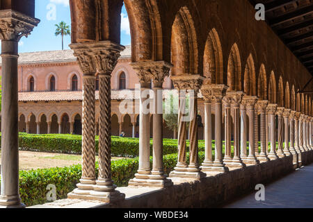
[[154,176],[150,175],[151,179],[138,179],[134,178],[129,180],[129,187],[157,187],[157,188],[166,188],[173,185],[172,180],[169,180],[164,176],[162,180],[153,179]]

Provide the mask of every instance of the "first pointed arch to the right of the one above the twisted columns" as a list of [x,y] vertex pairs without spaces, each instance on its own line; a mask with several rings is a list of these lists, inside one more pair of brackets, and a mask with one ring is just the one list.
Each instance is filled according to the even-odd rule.
[[215,28],[209,32],[204,48],[203,76],[207,78],[204,84],[223,84],[223,51]]

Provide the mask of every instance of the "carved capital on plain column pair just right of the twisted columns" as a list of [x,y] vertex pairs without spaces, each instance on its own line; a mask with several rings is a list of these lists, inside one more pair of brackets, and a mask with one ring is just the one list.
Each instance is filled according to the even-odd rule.
[[209,84],[202,85],[201,93],[205,100],[221,102],[226,94],[228,87],[226,85]]

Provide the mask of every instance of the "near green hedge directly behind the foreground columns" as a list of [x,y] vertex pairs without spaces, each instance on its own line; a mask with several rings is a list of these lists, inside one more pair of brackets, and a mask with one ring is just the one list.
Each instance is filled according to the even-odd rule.
[[[187,154],[187,160],[189,155]],[[199,153],[200,163],[204,160],[204,153]],[[163,157],[164,171],[168,174],[177,164],[177,154]],[[152,164],[152,158],[150,159]],[[127,186],[129,180],[134,178],[138,170],[138,157],[112,161],[112,178],[118,187]],[[98,165],[96,164],[96,175]],[[47,202],[47,185],[56,185],[57,199],[66,198],[67,194],[75,189],[81,178],[81,165],[72,167],[38,169],[19,172],[19,191],[22,202],[27,206]]]

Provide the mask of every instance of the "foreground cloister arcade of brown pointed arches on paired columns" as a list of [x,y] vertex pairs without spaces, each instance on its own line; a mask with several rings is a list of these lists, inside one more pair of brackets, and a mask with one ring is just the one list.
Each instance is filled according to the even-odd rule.
[[[129,181],[129,187],[117,188],[111,178],[110,83],[111,72],[125,49],[120,45],[123,3],[131,26],[131,65],[137,72],[141,91],[150,89],[151,82],[154,92],[163,89],[164,78],[170,76],[179,92],[193,90],[191,99],[195,109],[188,129],[189,162],[187,125],[183,120],[185,114],[180,111],[177,167],[167,176],[163,170],[163,128],[159,127],[163,124],[162,114],[152,112],[154,124],[150,128],[151,115],[143,112],[147,98],[141,95],[138,173]],[[311,2],[307,4],[312,6]],[[97,200],[99,204],[106,203],[106,207],[170,204],[206,207],[214,205],[215,199],[209,197],[216,195],[216,201],[223,200],[234,196],[240,187],[248,189],[251,181],[278,178],[313,161],[313,103],[310,94],[302,91],[305,85],[306,89],[313,89],[313,83],[308,83],[312,69],[300,62],[266,22],[255,19],[255,8],[250,1],[70,0],[70,8],[70,47],[83,72],[83,142],[82,177],[77,189],[68,194],[67,201]],[[34,17],[33,0],[1,0],[0,205],[6,207],[23,206],[18,186],[17,43],[39,24]],[[99,75],[98,178],[95,173],[96,74]],[[205,160],[201,166],[198,95],[204,101]],[[186,97],[180,96],[179,105],[185,103]],[[157,104],[154,110],[158,110]],[[73,123],[73,117],[69,118]],[[150,133],[153,153],[150,153]],[[159,193],[145,194],[146,189],[154,188]],[[145,196],[131,199],[127,196],[129,191]],[[155,201],[149,201],[151,198]]]

